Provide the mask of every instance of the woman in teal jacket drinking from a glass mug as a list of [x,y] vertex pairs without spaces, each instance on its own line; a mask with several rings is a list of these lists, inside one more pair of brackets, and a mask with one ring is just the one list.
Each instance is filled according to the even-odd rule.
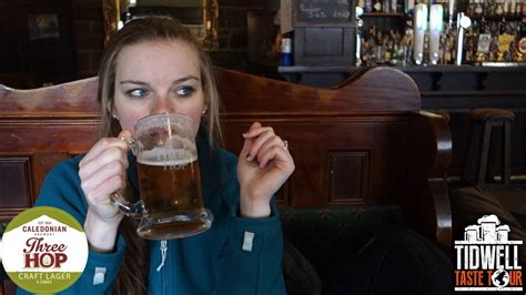
[[[272,195],[294,170],[286,143],[255,122],[240,160],[214,144],[219,98],[208,55],[169,18],[130,21],[110,41],[99,73],[102,139],[55,166],[37,205],[62,208],[84,226],[90,245],[74,294],[284,294],[283,237]],[[193,237],[141,240],[110,195],[136,191],[127,138],[155,113],[194,121],[205,206],[212,227]],[[127,179],[129,181],[127,181]],[[135,195],[136,197],[136,195]],[[243,247],[249,234],[251,247]],[[166,248],[168,246],[168,248]]]

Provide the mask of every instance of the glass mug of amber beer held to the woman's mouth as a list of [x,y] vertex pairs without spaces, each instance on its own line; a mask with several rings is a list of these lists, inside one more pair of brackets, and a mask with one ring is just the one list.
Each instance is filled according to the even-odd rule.
[[140,217],[141,237],[169,240],[204,232],[213,215],[204,208],[193,120],[154,114],[139,120],[130,142],[136,156],[140,201],[120,193],[111,199],[129,216]]

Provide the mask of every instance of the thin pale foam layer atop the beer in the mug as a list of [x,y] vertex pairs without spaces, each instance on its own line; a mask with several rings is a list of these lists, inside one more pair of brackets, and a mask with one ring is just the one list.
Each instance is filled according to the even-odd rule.
[[198,156],[188,150],[166,150],[164,148],[143,151],[136,159],[141,164],[153,166],[185,165],[196,160]]

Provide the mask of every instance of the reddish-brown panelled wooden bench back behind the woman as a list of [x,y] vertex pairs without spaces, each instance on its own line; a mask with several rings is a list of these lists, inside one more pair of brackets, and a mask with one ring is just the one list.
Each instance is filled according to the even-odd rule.
[[[239,153],[253,121],[290,143],[296,170],[282,208],[399,204],[409,224],[451,246],[444,181],[451,133],[421,111],[413,80],[374,68],[334,89],[216,69],[225,148]],[[48,171],[98,139],[97,79],[36,90],[0,87],[0,221],[30,207]],[[286,238],[286,236],[285,236]]]

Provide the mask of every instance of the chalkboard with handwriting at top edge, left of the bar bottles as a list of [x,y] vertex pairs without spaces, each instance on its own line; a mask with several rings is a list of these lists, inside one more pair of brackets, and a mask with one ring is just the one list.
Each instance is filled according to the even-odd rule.
[[355,0],[294,0],[294,26],[353,27]]

